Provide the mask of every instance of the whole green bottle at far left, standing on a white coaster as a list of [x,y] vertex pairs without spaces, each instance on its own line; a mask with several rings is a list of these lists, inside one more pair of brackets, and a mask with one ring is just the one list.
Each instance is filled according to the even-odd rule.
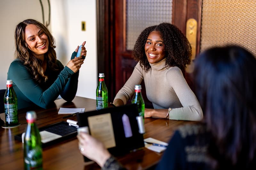
[[6,126],[19,124],[18,102],[16,93],[12,87],[12,80],[6,81],[6,91],[4,94],[4,112]]

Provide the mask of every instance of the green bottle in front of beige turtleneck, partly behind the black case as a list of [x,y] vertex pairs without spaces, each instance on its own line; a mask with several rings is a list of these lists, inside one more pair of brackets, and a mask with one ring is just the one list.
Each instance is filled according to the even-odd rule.
[[135,93],[132,98],[132,103],[137,103],[139,116],[143,117],[144,120],[144,111],[145,111],[145,103],[141,94],[141,85],[135,85]]

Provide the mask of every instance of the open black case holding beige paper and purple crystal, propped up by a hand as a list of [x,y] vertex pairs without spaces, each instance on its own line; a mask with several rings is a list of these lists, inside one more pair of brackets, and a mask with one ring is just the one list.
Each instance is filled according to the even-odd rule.
[[87,126],[114,156],[144,147],[144,122],[136,104],[79,113],[77,120],[79,128]]

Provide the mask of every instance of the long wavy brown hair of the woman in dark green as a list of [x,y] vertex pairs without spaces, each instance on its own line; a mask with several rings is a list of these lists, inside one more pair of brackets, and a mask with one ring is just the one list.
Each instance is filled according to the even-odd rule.
[[58,70],[58,66],[56,64],[56,52],[54,48],[54,39],[50,31],[40,22],[34,19],[26,19],[20,22],[15,29],[15,57],[20,59],[23,64],[28,68],[28,70],[33,74],[33,78],[41,83],[48,80],[48,77],[44,75],[43,69],[43,61],[33,56],[33,53],[28,48],[28,44],[25,41],[25,29],[29,24],[36,25],[40,28],[48,37],[49,47],[48,52],[44,54],[44,58],[47,62],[48,67],[50,67],[53,71]]

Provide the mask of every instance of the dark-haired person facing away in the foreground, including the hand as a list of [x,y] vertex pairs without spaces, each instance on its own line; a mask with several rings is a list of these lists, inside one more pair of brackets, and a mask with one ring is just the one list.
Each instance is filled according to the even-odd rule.
[[[174,132],[158,170],[256,169],[256,59],[246,49],[213,47],[195,60],[204,119]],[[124,169],[103,144],[81,132],[80,152],[102,169]]]

